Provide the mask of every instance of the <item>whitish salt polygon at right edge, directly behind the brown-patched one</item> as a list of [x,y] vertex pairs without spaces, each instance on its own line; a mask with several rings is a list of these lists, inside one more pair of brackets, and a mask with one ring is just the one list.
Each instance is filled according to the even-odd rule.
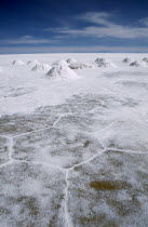
[[98,136],[109,148],[148,152],[148,130],[146,129],[148,129],[148,122],[142,119],[135,121],[131,116],[127,121],[117,122],[104,133],[98,133]]

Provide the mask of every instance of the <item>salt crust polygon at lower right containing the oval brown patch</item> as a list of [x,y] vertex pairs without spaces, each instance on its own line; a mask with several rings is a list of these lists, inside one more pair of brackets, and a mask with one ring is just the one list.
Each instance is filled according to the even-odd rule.
[[73,226],[147,226],[148,156],[106,151],[69,173]]

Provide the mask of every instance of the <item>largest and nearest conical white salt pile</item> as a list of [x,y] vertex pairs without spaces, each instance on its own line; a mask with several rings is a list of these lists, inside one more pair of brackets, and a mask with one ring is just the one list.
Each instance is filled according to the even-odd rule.
[[59,61],[58,64],[54,65],[50,71],[45,75],[50,80],[54,79],[77,79],[78,75],[68,67],[65,61]]

